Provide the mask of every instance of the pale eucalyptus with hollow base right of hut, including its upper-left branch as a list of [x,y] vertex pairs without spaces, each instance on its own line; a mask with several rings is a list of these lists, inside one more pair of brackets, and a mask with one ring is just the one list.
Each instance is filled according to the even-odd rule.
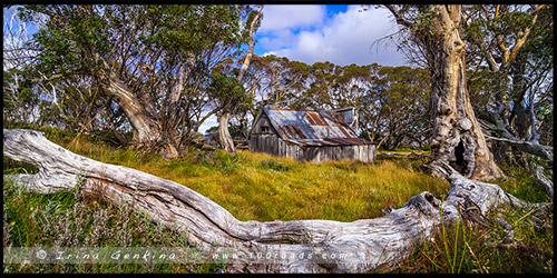
[[[424,54],[431,77],[432,161],[461,169],[469,178],[494,179],[495,163],[470,103],[467,86],[466,19],[460,4],[385,6],[412,46]],[[434,165],[434,163],[432,163]],[[437,169],[432,169],[437,172]]]

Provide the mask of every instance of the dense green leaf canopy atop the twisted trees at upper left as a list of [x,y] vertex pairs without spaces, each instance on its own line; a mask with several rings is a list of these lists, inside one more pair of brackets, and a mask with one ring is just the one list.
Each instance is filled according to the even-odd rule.
[[[198,53],[215,43],[237,48],[246,41],[240,34],[237,14],[231,6],[95,4],[20,8],[20,17],[25,21],[33,21],[45,14],[51,19],[33,36],[37,47],[42,50],[38,57],[41,61],[38,70],[41,72],[82,71],[95,75],[95,71],[106,67],[101,60],[95,59],[96,54],[109,59],[127,59],[110,57],[119,43],[127,43],[125,49],[133,49],[131,52],[119,53],[121,56],[140,58],[163,50],[170,58]],[[134,26],[129,22],[134,22]],[[219,23],[215,24],[216,22]],[[130,40],[128,33],[137,37],[131,37]],[[117,60],[115,62],[119,62]]]

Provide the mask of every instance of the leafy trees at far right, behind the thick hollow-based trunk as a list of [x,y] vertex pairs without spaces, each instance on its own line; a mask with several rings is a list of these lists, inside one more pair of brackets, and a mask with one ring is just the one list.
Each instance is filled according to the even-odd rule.
[[[483,81],[477,91],[483,95],[479,117],[502,137],[490,139],[553,160],[553,148],[539,142],[545,125],[537,120],[553,113],[553,6],[479,6],[467,17],[472,80]],[[546,137],[551,133],[545,129]]]

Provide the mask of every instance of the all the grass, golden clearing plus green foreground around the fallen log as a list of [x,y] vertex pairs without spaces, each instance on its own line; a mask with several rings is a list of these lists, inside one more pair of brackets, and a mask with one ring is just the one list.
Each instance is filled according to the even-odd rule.
[[[422,191],[430,191],[442,199],[449,188],[447,181],[417,170],[424,161],[393,156],[380,156],[377,163],[311,163],[248,151],[231,156],[219,150],[209,152],[192,148],[183,158],[167,161],[159,156],[116,148],[100,135],[82,135],[76,140],[76,135],[71,132],[49,128],[41,130],[48,139],[79,155],[131,167],[187,186],[219,203],[241,220],[353,221],[382,216],[381,209],[388,206],[399,208],[410,197]],[[36,169],[3,158],[3,171],[7,175],[33,172]],[[497,181],[505,190],[529,201],[548,200],[527,175],[517,169],[510,169],[510,172],[516,176]],[[100,200],[87,199],[77,192],[50,196],[26,193],[13,186],[9,178],[4,180],[3,190],[4,247],[187,245],[177,240],[183,238],[177,231],[157,227],[146,216]],[[459,222],[458,228],[443,227],[443,232],[432,241],[438,244],[418,247],[408,264],[381,271],[549,272],[553,269],[553,228],[539,230],[538,226],[527,220],[529,218],[524,217],[527,214],[534,212],[512,211],[506,214],[506,217],[510,219],[508,222],[516,224],[516,237],[530,248],[525,250],[537,254],[534,259],[522,258],[518,264],[521,258],[518,255],[526,252],[525,250],[499,250],[497,246],[490,248],[489,242],[496,242],[505,236],[497,231],[496,224],[494,227],[472,227]],[[539,217],[545,217],[546,222],[550,221],[553,227],[553,215]],[[489,259],[496,255],[497,261]],[[508,264],[518,264],[520,267],[509,269],[506,267]],[[4,272],[214,272],[221,267],[223,266],[8,266]]]

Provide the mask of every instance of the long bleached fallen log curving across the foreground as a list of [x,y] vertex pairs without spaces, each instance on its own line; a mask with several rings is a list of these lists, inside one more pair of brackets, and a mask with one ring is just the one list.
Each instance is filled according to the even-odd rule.
[[451,182],[444,201],[426,191],[383,217],[352,222],[240,221],[184,185],[72,153],[39,131],[4,129],[3,155],[39,169],[10,176],[28,190],[50,193],[78,187],[85,195],[134,206],[160,225],[185,229],[188,242],[199,250],[234,252],[227,261],[231,272],[367,272],[403,260],[416,244],[429,239],[441,217],[456,221],[472,205],[479,214],[508,202],[526,206],[496,185],[466,179],[438,163],[438,173]]

